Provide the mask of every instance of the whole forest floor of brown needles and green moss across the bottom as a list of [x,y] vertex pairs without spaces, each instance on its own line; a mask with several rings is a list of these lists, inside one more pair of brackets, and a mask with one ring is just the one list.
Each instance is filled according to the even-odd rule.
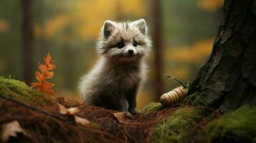
[[[60,105],[79,111],[61,114]],[[24,82],[0,77],[0,142],[256,142],[255,115],[256,109],[248,106],[222,115],[208,107],[159,103],[130,115],[49,97]],[[80,124],[76,117],[88,122]],[[23,132],[6,140],[6,124],[13,121]]]

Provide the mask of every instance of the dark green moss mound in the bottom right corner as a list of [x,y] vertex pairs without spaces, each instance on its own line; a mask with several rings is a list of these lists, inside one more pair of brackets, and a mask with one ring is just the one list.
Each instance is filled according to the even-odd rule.
[[207,142],[256,142],[256,108],[245,105],[207,124],[201,140]]

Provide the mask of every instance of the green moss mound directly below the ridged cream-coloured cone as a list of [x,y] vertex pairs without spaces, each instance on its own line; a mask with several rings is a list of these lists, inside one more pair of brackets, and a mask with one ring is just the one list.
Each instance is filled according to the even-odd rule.
[[189,142],[189,135],[202,120],[204,112],[196,107],[181,107],[153,131],[153,142]]

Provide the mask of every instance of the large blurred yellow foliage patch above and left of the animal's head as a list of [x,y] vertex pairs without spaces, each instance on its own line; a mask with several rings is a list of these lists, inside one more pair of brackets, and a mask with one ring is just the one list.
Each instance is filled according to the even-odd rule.
[[69,24],[76,25],[81,39],[96,39],[105,20],[123,20],[126,16],[143,18],[146,14],[143,0],[77,0],[62,3],[67,13],[52,16],[41,26],[34,26],[35,36],[52,38]]

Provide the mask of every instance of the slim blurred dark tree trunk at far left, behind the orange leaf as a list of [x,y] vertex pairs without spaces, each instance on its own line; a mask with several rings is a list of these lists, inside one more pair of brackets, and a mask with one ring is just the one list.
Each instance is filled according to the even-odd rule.
[[22,0],[22,46],[23,46],[23,64],[24,64],[24,82],[32,82],[32,1]]

